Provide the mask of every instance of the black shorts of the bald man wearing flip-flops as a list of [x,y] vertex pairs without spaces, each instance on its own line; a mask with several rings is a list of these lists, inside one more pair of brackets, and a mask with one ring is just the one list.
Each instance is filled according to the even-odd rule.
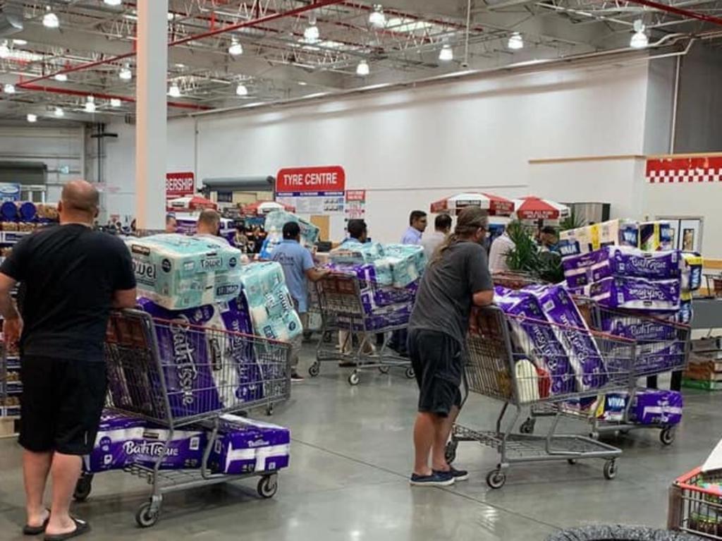
[[105,404],[105,363],[23,355],[19,443],[37,453],[89,454]]

